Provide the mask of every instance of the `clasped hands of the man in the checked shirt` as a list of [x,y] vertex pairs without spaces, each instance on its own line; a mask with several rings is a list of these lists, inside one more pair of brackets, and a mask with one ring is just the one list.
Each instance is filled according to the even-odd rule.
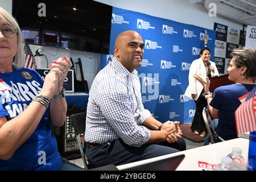
[[160,131],[162,131],[166,136],[167,142],[174,143],[181,139],[182,132],[180,130],[179,124],[179,121],[167,121],[163,123],[162,129]]

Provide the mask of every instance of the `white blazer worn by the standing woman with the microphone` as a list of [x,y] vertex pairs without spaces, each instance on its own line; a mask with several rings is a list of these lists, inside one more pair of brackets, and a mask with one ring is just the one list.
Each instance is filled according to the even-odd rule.
[[[213,61],[210,61],[210,66],[214,67],[214,73],[211,72],[212,77],[217,76],[218,69],[216,67],[216,64]],[[192,98],[191,94],[196,94],[195,100],[197,100],[197,98],[199,98],[200,93],[203,90],[203,85],[199,81],[197,81],[195,78],[193,78],[193,75],[195,74],[201,76],[204,79],[207,77],[205,65],[201,57],[199,59],[193,60],[193,62],[191,63],[191,67],[189,68],[189,75],[188,75],[189,84],[184,93],[185,96],[190,98]]]

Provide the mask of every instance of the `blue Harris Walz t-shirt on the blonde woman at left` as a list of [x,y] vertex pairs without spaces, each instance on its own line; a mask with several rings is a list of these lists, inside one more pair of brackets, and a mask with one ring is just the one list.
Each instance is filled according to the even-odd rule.
[[[13,67],[11,73],[0,73],[0,117],[15,118],[39,94],[43,80],[33,69]],[[1,170],[58,170],[61,166],[55,137],[46,110],[32,135],[9,160],[0,160]]]

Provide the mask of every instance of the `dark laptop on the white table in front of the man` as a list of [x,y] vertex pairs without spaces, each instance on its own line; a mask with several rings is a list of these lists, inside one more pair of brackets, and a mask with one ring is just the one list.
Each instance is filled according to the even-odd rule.
[[175,171],[184,157],[185,155],[181,154],[171,158],[127,168],[125,171]]

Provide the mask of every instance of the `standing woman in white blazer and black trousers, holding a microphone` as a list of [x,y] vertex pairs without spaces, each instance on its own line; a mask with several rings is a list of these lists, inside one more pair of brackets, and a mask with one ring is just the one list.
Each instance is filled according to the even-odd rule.
[[205,124],[203,119],[203,109],[207,106],[205,97],[202,96],[204,92],[203,86],[199,81],[193,78],[193,75],[200,75],[201,77],[213,77],[218,76],[218,69],[213,61],[210,61],[210,50],[203,48],[200,51],[200,58],[193,60],[191,67],[189,68],[188,75],[188,87],[185,90],[185,96],[192,98],[196,103],[196,112],[192,121],[191,130],[195,134],[200,134],[201,137],[205,137]]

